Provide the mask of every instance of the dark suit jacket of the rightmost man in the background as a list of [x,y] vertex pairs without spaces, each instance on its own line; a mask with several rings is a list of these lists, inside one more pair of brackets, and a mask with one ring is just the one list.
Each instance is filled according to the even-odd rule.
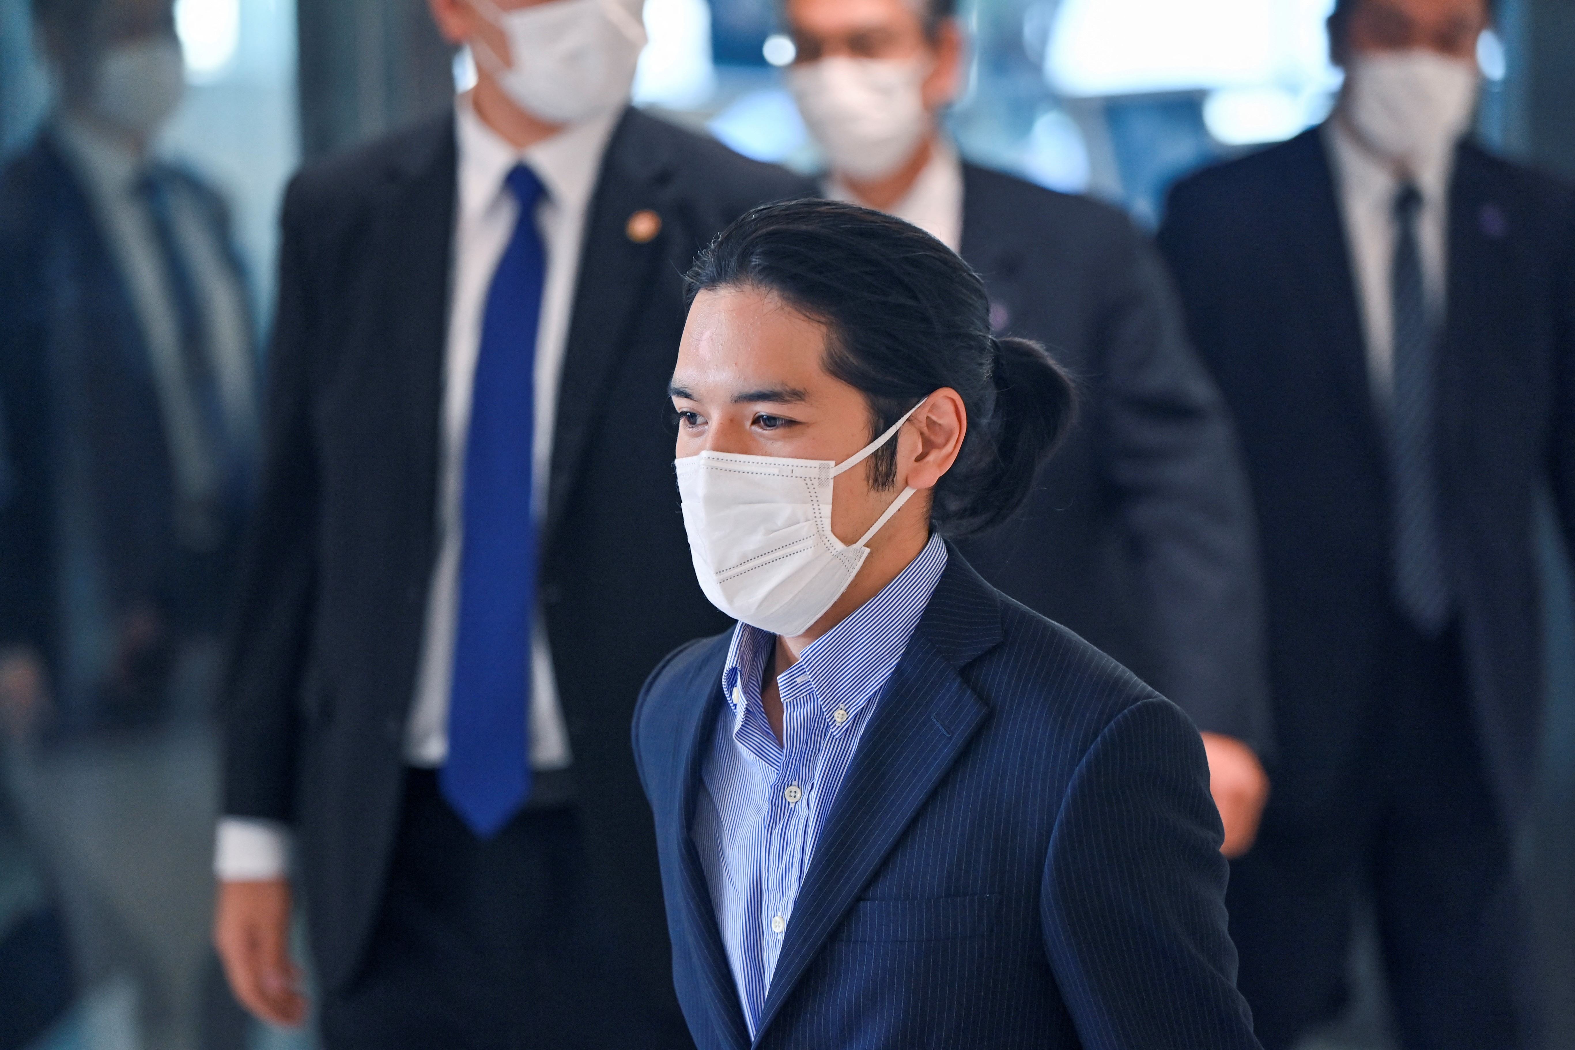
[[[1178,184],[1159,244],[1236,416],[1257,501],[1280,754],[1271,812],[1328,819],[1383,710],[1399,622],[1386,453],[1320,132]],[[1484,759],[1517,817],[1542,701],[1539,485],[1575,535],[1575,195],[1463,143],[1447,249],[1446,556]]]

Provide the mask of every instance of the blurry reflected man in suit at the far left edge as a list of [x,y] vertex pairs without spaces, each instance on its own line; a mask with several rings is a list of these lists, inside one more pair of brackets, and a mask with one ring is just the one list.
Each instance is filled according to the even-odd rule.
[[57,875],[82,979],[120,981],[150,1044],[192,1045],[211,803],[161,782],[211,767],[257,444],[252,305],[225,201],[153,148],[186,83],[172,0],[36,0],[33,19],[55,104],[0,173],[13,823]]

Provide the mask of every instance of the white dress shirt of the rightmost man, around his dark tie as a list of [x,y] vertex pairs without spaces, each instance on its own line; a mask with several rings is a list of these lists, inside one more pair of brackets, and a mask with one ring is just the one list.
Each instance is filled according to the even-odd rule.
[[[1334,184],[1351,252],[1358,307],[1367,338],[1367,375],[1373,400],[1389,405],[1394,390],[1394,201],[1402,178],[1394,167],[1358,143],[1339,118],[1323,124]],[[1451,146],[1411,175],[1422,195],[1416,217],[1416,247],[1429,313],[1444,315],[1449,236],[1449,178],[1455,151]]]

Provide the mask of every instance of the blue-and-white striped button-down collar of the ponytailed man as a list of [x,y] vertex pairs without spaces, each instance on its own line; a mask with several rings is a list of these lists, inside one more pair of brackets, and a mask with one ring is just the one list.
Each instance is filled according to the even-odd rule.
[[[855,723],[858,712],[891,675],[907,641],[929,604],[947,568],[947,543],[931,535],[918,557],[896,579],[858,606],[841,623],[810,642],[799,663],[778,677],[784,701],[806,683],[835,734]],[[734,716],[734,732],[750,707],[759,708],[761,682],[776,649],[776,636],[748,623],[732,631],[721,685]],[[742,694],[742,702],[740,702]],[[836,718],[836,712],[843,718]]]

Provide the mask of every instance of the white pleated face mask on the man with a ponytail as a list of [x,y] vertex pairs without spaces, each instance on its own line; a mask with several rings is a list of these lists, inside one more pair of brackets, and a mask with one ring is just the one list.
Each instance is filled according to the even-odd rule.
[[915,411],[841,464],[726,452],[677,460],[690,556],[710,603],[772,634],[810,630],[854,581],[869,538],[914,494],[904,488],[849,545],[832,534],[832,479],[863,463]]

